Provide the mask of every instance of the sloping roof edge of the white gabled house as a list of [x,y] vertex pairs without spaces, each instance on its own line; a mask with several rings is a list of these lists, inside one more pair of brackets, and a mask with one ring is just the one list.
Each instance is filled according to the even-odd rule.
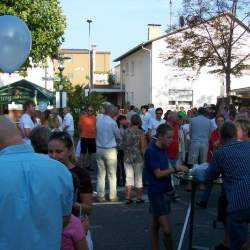
[[[220,15],[218,15],[218,16],[215,16],[215,17],[212,17],[212,18],[210,18],[210,19],[208,19],[208,20],[206,20],[206,21],[204,21],[204,22],[207,23],[207,22],[209,22],[209,21],[211,21],[211,20],[213,20],[213,19],[216,19],[216,18],[218,18],[218,17],[220,17],[220,16],[224,16],[224,15],[230,16],[230,17],[233,18],[237,23],[239,23],[244,29],[246,29],[248,32],[250,32],[249,27],[246,26],[243,22],[241,22],[238,18],[234,17],[231,13],[222,13],[222,14],[220,14]],[[121,61],[122,59],[124,59],[124,58],[126,58],[126,57],[132,55],[132,54],[135,53],[135,52],[137,52],[138,50],[141,50],[141,49],[142,49],[142,46],[145,47],[145,46],[147,46],[147,45],[149,45],[149,44],[151,44],[151,43],[153,43],[153,42],[155,42],[155,41],[157,41],[157,40],[160,40],[160,39],[162,39],[162,38],[165,38],[165,37],[174,35],[174,34],[176,34],[176,33],[182,32],[182,31],[187,30],[187,29],[190,29],[190,27],[189,27],[189,26],[186,26],[186,27],[183,27],[183,28],[174,30],[174,31],[172,31],[172,32],[169,32],[169,33],[167,33],[167,34],[165,34],[165,35],[159,36],[159,37],[157,37],[157,38],[155,38],[155,39],[148,40],[148,41],[146,41],[146,42],[140,43],[139,45],[137,45],[136,47],[132,48],[132,49],[129,50],[128,52],[126,52],[126,53],[122,54],[121,56],[117,57],[116,59],[114,59],[114,62],[119,62],[119,61]]]

